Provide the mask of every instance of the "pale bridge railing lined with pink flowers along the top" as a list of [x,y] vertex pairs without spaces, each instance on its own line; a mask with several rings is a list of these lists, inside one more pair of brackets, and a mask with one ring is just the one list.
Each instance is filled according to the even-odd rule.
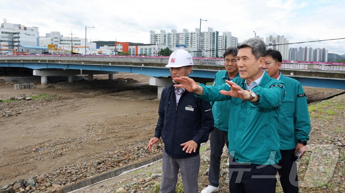
[[[63,60],[63,61],[94,61],[94,62],[135,62],[135,63],[162,63],[167,64],[168,57],[121,57],[121,56],[6,56],[0,57],[0,61],[11,60]],[[224,60],[215,59],[193,59],[195,65],[224,66]],[[302,71],[322,71],[322,72],[342,72],[345,73],[345,65],[336,64],[308,64],[308,63],[283,63],[281,69],[302,70]]]

